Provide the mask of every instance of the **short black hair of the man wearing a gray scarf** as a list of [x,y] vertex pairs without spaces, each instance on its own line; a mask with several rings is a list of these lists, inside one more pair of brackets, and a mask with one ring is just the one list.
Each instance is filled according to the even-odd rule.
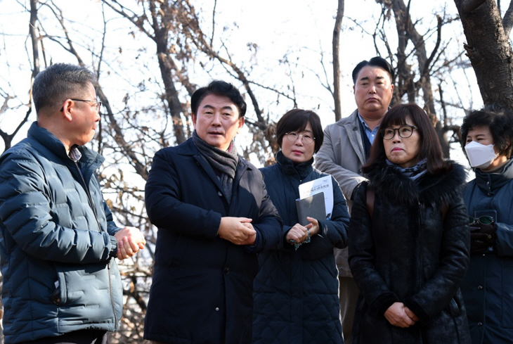
[[230,101],[232,101],[235,106],[237,106],[239,110],[239,116],[244,117],[246,114],[246,102],[244,101],[244,98],[242,98],[240,91],[229,82],[214,80],[207,87],[201,87],[200,89],[197,89],[193,93],[193,96],[190,97],[190,111],[194,115],[197,115],[197,108],[200,107],[204,97],[208,96],[209,94],[214,94],[214,96],[226,96],[230,98]]

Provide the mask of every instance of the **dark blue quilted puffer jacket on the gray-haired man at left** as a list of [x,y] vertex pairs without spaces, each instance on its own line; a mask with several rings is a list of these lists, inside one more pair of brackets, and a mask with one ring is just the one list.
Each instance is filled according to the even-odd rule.
[[0,157],[7,344],[117,329],[122,284],[112,257],[119,228],[94,174],[104,159],[77,149],[82,158],[75,163],[63,144],[34,122],[27,139]]

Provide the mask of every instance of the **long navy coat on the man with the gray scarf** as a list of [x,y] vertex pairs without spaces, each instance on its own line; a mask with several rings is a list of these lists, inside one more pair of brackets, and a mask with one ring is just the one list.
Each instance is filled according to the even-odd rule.
[[[155,154],[145,189],[148,217],[158,227],[145,339],[251,342],[257,253],[278,244],[282,222],[261,172],[242,158],[229,205],[221,190],[192,139]],[[226,216],[252,219],[254,246],[219,238]]]

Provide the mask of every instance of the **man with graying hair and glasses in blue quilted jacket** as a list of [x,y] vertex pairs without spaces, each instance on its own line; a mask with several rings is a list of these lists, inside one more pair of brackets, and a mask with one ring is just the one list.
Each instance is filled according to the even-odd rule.
[[0,157],[0,255],[6,344],[107,343],[122,315],[113,258],[145,245],[117,227],[86,148],[100,120],[95,75],[59,63],[40,72],[37,122]]

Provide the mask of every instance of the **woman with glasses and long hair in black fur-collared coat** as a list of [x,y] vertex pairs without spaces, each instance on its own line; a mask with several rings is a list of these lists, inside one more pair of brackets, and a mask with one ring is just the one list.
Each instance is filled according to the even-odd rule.
[[394,106],[380,127],[349,224],[361,291],[351,343],[470,343],[460,292],[469,264],[465,171],[443,160],[415,104]]

